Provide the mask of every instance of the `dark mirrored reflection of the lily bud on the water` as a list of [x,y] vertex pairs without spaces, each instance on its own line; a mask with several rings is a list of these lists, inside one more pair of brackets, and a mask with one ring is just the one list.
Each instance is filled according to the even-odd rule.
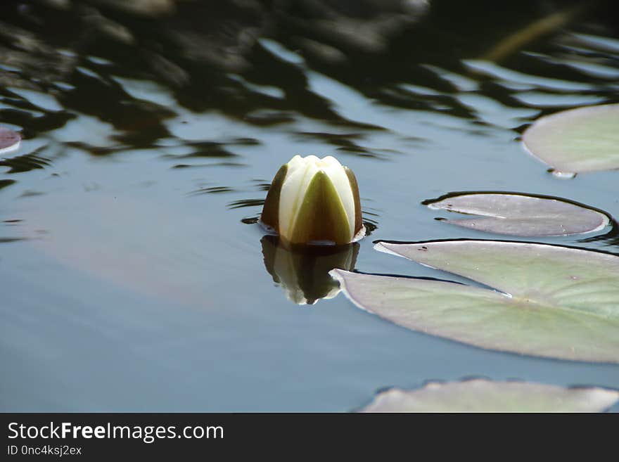
[[340,293],[338,281],[329,276],[334,268],[355,269],[359,244],[286,245],[278,236],[263,236],[264,267],[296,304],[315,304]]

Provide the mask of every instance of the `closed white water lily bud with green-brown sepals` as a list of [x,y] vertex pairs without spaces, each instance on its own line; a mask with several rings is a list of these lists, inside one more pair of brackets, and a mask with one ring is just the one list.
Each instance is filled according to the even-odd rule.
[[260,221],[288,243],[359,240],[365,228],[355,174],[330,155],[295,155],[275,175]]

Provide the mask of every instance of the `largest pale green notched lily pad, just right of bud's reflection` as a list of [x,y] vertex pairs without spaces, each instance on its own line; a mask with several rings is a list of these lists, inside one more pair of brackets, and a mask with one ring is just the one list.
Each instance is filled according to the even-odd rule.
[[334,269],[358,307],[409,329],[478,347],[619,362],[619,257],[499,240],[378,243],[376,249],[478,281]]

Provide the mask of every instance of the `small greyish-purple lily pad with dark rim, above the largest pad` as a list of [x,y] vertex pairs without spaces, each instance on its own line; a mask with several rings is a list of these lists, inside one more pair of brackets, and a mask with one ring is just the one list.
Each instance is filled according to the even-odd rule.
[[567,236],[608,226],[606,214],[555,198],[510,193],[461,193],[424,202],[431,209],[480,215],[449,224],[511,236]]

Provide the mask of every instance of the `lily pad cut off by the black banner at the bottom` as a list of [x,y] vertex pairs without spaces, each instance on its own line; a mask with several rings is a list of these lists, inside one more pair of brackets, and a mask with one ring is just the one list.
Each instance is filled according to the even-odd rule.
[[466,380],[428,383],[419,390],[392,388],[363,412],[600,412],[619,400],[604,388],[565,388],[530,382]]

